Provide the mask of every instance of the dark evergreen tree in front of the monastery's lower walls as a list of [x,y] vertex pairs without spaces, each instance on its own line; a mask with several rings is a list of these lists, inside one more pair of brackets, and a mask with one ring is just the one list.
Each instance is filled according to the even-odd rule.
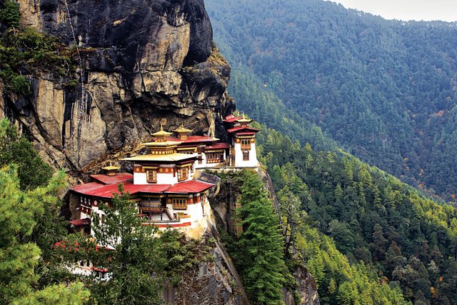
[[[92,229],[96,246],[89,249],[95,266],[107,268],[110,279],[87,284],[94,300],[101,304],[161,304],[161,286],[153,273],[160,270],[163,259],[154,238],[154,226],[142,226],[136,202],[129,199],[124,186],[119,184],[111,204],[101,205],[99,214],[93,214]],[[108,247],[110,250],[104,250]]]

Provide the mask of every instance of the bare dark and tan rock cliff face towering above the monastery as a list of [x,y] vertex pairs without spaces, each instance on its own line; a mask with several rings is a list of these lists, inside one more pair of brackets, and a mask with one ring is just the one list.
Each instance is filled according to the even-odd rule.
[[212,47],[203,0],[19,4],[24,26],[75,51],[73,75],[39,72],[28,76],[31,96],[0,94],[0,116],[18,121],[50,164],[91,171],[161,123],[224,138],[217,123],[233,107],[230,68]]

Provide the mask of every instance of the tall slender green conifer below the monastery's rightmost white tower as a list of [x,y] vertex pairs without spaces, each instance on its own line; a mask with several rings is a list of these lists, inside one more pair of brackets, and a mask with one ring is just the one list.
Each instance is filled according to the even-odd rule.
[[238,270],[253,304],[277,304],[286,273],[278,216],[255,172],[243,171],[242,181]]

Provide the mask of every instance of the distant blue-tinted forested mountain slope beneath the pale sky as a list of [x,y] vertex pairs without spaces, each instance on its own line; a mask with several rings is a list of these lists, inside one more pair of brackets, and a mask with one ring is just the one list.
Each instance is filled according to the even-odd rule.
[[295,111],[403,181],[456,193],[457,24],[319,0],[205,2],[241,110],[251,101],[239,99],[237,73],[255,75],[288,108],[281,116]]

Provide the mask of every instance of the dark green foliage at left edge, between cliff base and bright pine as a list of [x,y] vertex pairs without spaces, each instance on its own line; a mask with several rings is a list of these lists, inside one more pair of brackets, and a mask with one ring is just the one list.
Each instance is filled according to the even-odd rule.
[[51,167],[34,150],[16,126],[8,119],[0,120],[0,166],[16,164],[21,189],[35,189],[48,183]]

